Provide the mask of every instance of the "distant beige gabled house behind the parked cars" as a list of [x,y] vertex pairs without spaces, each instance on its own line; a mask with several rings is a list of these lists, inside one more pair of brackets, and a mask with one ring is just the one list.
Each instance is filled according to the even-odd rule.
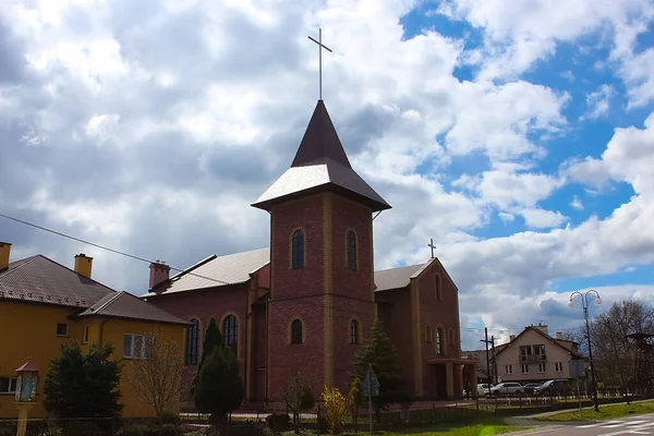
[[560,332],[553,338],[547,326],[531,325],[496,348],[498,380],[528,383],[571,378],[569,362],[573,359],[583,359],[577,352],[576,342],[564,339]]

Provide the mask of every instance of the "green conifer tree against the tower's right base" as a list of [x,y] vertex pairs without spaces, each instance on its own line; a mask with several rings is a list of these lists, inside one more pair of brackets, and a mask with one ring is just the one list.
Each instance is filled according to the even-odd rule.
[[[354,375],[365,378],[368,365],[375,371],[379,380],[379,396],[373,397],[377,420],[379,410],[392,402],[405,401],[409,396],[403,391],[403,380],[398,353],[380,320],[373,324],[370,340],[356,355]],[[364,401],[367,398],[363,399]]]

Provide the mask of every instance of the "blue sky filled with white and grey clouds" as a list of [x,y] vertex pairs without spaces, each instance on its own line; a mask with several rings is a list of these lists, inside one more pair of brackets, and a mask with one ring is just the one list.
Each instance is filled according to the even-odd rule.
[[[324,99],[393,208],[376,268],[437,255],[464,344],[571,291],[654,301],[654,3],[646,0],[0,0],[0,213],[183,268],[266,246],[250,206]],[[148,265],[0,218],[146,291]]]

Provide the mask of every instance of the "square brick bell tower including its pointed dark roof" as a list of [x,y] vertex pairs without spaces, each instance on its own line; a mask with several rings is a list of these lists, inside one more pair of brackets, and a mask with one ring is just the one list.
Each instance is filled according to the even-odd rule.
[[375,314],[373,214],[389,209],[350,165],[318,100],[291,167],[252,205],[270,213],[268,398],[301,374],[344,392]]

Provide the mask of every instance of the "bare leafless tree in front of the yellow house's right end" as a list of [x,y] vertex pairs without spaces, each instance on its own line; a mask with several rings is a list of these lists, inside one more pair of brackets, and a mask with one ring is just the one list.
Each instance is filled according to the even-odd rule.
[[184,354],[182,343],[154,329],[146,341],[145,359],[134,359],[125,368],[128,383],[157,416],[171,412],[182,393]]

